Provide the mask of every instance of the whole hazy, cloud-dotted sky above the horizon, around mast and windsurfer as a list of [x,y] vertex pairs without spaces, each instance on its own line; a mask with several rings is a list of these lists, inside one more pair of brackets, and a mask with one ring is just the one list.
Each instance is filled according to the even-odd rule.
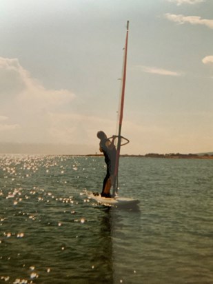
[[212,0],[1,0],[0,143],[99,152],[97,132],[116,133],[130,21],[121,154],[212,151],[212,11]]

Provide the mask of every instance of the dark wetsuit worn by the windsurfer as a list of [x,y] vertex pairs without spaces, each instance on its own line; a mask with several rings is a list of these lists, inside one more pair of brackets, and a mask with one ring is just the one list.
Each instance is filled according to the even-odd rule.
[[107,173],[105,176],[105,179],[103,180],[103,188],[101,194],[103,194],[105,184],[107,183],[108,179],[112,174],[114,174],[114,168],[115,168],[115,161],[116,161],[116,148],[113,146],[112,149],[109,149],[105,143],[110,142],[109,139],[103,139],[100,142],[100,148],[103,151],[103,154],[105,156],[105,163],[107,165]]

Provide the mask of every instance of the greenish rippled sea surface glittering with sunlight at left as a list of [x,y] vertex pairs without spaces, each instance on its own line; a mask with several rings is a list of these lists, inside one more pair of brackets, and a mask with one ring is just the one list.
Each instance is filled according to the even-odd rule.
[[213,283],[213,160],[122,157],[103,207],[92,156],[0,156],[0,283]]

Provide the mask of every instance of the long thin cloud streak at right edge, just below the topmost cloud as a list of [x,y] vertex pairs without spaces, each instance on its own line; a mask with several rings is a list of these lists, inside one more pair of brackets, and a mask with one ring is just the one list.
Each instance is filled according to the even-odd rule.
[[174,21],[175,23],[191,23],[192,25],[204,25],[207,28],[213,29],[213,20],[210,19],[201,19],[198,16],[183,16],[183,14],[165,14],[165,18]]

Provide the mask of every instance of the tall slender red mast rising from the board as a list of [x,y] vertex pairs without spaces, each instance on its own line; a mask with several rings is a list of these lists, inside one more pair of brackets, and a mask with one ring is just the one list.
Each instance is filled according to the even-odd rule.
[[120,112],[119,112],[119,114],[120,114],[120,116],[119,116],[119,133],[118,133],[118,142],[117,142],[117,149],[116,149],[117,152],[116,152],[116,163],[115,163],[115,170],[114,170],[114,185],[113,185],[112,196],[114,196],[118,192],[118,187],[119,187],[118,174],[119,174],[119,157],[120,157],[121,138],[122,138],[121,128],[122,128],[122,121],[123,121],[123,105],[124,105],[124,97],[125,97],[126,67],[127,67],[127,56],[128,56],[128,34],[129,34],[129,21],[127,22],[126,37],[125,37],[122,88],[121,88],[121,105],[120,105]]

